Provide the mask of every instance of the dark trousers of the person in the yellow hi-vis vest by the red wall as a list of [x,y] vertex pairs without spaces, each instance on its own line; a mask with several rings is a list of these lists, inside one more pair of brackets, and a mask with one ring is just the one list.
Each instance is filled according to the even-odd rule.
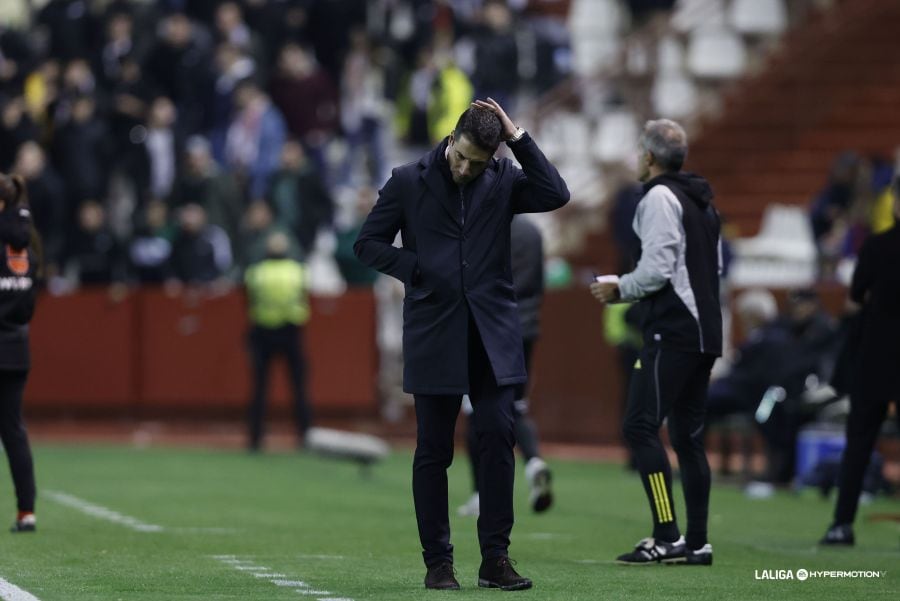
[[253,398],[249,412],[249,446],[258,449],[262,444],[269,388],[269,367],[272,359],[281,356],[287,361],[294,391],[294,417],[297,435],[302,438],[312,423],[306,395],[306,356],[303,352],[303,328],[253,327],[250,330],[250,358],[253,365]]

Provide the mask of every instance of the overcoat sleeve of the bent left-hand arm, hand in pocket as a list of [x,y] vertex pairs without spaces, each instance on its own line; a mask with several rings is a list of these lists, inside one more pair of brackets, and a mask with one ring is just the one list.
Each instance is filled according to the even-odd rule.
[[412,284],[418,258],[414,252],[393,245],[403,227],[401,189],[400,175],[394,169],[391,178],[378,191],[378,201],[359,231],[353,252],[364,265]]

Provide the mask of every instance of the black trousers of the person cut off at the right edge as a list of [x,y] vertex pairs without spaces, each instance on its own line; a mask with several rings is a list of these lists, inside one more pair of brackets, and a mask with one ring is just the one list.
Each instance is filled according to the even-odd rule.
[[[838,475],[838,500],[834,510],[835,524],[852,524],[859,507],[859,495],[881,424],[887,416],[890,400],[884,396],[853,394],[847,417],[847,446]],[[900,405],[895,407],[900,410]],[[900,413],[897,415],[900,425]]]

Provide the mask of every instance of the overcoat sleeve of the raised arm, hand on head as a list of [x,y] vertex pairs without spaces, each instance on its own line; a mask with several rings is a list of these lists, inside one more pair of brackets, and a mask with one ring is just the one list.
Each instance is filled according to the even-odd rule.
[[509,144],[522,165],[513,182],[512,206],[516,213],[543,213],[569,202],[569,188],[556,167],[527,133]]

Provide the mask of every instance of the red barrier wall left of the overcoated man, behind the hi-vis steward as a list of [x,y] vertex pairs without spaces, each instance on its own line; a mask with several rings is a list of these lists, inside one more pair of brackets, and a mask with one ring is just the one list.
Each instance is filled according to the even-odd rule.
[[[240,292],[172,296],[142,289],[43,296],[32,325],[30,409],[240,409],[250,394],[246,306]],[[305,332],[314,408],[374,411],[375,306],[367,290],[312,300]],[[283,365],[272,405],[287,407]]]

